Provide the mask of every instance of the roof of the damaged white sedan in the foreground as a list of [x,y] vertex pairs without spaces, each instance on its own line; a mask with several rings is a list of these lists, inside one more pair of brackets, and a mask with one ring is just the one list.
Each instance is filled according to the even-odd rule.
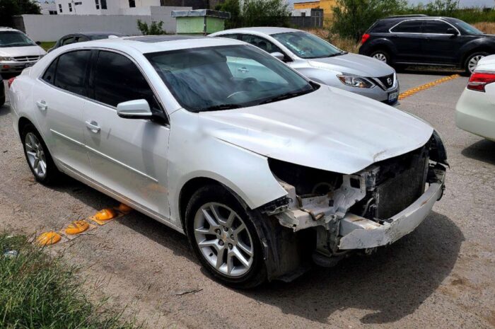
[[[191,40],[194,39],[194,42]],[[76,42],[61,47],[63,49],[82,49],[86,47],[102,47],[124,52],[165,52],[199,47],[216,47],[223,45],[245,45],[245,42],[219,38],[200,37],[192,35],[145,35],[138,37],[121,37],[117,39],[101,39],[86,42]]]

